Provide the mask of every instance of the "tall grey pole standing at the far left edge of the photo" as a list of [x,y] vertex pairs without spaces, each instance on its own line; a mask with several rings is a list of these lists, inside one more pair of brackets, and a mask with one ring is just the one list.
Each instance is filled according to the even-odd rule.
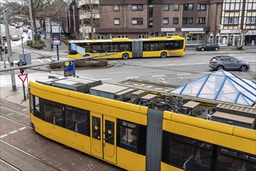
[[[12,58],[12,46],[11,46],[11,37],[9,32],[9,19],[8,19],[8,9],[3,10],[4,12],[4,22],[5,22],[5,35],[7,39],[7,47],[8,47],[8,61],[10,67],[13,67],[13,58]],[[12,79],[12,91],[16,91],[16,81],[14,71],[11,72],[11,79]]]

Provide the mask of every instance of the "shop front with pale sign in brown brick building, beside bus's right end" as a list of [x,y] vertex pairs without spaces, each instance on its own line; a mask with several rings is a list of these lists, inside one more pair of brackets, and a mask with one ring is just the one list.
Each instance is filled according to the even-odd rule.
[[206,33],[203,28],[181,28],[186,45],[204,44]]

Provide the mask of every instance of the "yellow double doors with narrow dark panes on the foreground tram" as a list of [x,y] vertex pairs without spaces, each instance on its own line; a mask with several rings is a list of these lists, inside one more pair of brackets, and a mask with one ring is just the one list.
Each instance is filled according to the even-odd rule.
[[116,164],[116,119],[91,113],[91,153]]

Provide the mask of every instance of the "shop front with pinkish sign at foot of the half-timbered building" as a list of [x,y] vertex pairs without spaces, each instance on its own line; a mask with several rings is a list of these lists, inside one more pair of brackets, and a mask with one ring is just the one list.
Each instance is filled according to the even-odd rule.
[[221,46],[242,46],[243,39],[241,30],[220,30],[220,33],[216,35],[216,40]]

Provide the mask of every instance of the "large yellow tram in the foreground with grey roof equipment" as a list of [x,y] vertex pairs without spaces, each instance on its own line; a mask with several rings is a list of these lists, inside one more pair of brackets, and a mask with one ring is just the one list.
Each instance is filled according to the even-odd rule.
[[34,131],[123,169],[256,170],[254,125],[161,110],[159,94],[82,78],[30,82],[29,92]]

